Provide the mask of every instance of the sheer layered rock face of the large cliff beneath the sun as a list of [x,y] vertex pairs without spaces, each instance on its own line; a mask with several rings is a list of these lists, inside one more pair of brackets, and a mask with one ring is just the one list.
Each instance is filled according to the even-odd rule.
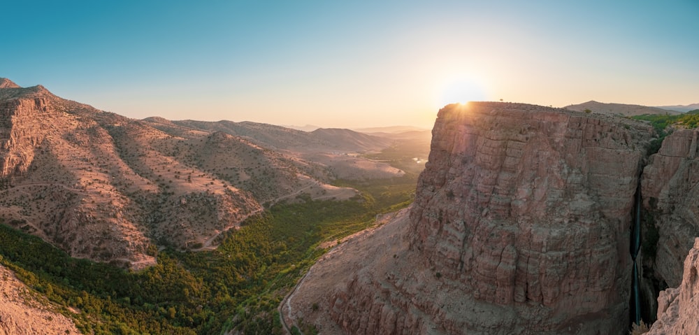
[[624,313],[621,250],[650,130],[621,122],[512,104],[442,110],[412,248],[482,301]]

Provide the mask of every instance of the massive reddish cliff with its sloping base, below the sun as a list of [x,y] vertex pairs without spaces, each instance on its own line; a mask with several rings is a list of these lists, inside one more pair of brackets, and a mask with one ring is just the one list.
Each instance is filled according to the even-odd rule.
[[348,278],[319,289],[307,277],[289,319],[351,334],[626,332],[631,213],[652,136],[542,106],[442,108],[409,220],[341,246],[374,251],[338,251],[333,272]]

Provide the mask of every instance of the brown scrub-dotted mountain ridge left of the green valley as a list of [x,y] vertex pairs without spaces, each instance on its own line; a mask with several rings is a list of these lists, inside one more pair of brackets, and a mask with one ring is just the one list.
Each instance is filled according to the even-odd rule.
[[[41,85],[22,88],[3,78],[0,218],[73,257],[140,267],[154,262],[159,245],[210,248],[223,231],[279,201],[356,196],[354,189],[328,184],[338,176],[403,173],[361,157],[338,160],[336,166],[356,167],[336,173],[326,159],[314,162],[290,147],[280,149],[282,143],[296,143],[345,157],[350,150],[385,148],[392,143],[387,138],[336,129],[319,129],[324,135],[315,136],[265,124],[241,126],[266,134],[264,139],[252,136],[252,130],[233,134],[233,122],[207,124],[132,120],[62,99]],[[333,146],[335,133],[343,134],[336,138],[342,144]],[[356,140],[348,141],[347,134]]]

